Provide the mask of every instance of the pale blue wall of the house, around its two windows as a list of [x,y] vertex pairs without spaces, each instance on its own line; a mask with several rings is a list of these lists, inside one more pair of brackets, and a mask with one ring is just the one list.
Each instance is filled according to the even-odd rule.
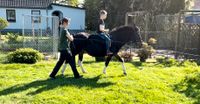
[[[85,10],[83,9],[76,9],[76,8],[68,8],[63,6],[53,5],[51,10],[40,9],[40,14],[42,15],[41,21],[42,23],[31,23],[31,17],[26,15],[31,15],[32,10],[38,9],[21,9],[21,8],[0,8],[0,17],[7,19],[6,17],[6,9],[15,9],[16,11],[16,22],[10,22],[9,26],[6,28],[22,31],[23,29],[23,20],[24,20],[24,28],[25,29],[35,29],[42,28],[46,29],[47,27],[52,28],[52,19],[48,19],[45,16],[52,16],[54,11],[61,11],[63,13],[63,17],[71,18],[71,23],[69,29],[71,30],[84,30],[85,29]],[[23,15],[25,16],[23,17]]]

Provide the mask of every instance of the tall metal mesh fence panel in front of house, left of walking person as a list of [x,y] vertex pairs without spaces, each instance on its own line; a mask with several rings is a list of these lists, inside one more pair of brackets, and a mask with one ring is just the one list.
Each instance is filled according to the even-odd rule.
[[57,54],[59,18],[54,16],[23,16],[23,47],[43,53]]

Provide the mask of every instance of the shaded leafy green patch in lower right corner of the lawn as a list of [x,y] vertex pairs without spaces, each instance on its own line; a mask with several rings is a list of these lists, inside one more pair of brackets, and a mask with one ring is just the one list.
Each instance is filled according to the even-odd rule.
[[187,76],[175,85],[174,90],[194,99],[193,104],[200,104],[200,72]]

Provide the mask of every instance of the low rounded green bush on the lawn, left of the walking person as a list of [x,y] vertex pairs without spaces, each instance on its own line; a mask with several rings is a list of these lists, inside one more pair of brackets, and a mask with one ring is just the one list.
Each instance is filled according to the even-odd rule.
[[9,63],[27,63],[34,64],[43,59],[43,54],[31,48],[21,48],[8,54]]

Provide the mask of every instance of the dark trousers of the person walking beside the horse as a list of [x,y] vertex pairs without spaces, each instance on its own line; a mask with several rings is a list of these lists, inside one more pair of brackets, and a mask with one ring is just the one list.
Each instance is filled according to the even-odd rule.
[[54,67],[52,73],[50,74],[50,77],[53,77],[55,78],[56,74],[58,73],[60,67],[62,66],[62,64],[64,62],[69,62],[71,68],[72,68],[72,71],[74,73],[74,77],[79,77],[79,73],[76,69],[76,65],[75,65],[75,58],[72,57],[72,55],[67,51],[67,50],[63,50],[63,51],[60,51],[60,58],[59,58],[59,61],[57,62],[56,66]]

